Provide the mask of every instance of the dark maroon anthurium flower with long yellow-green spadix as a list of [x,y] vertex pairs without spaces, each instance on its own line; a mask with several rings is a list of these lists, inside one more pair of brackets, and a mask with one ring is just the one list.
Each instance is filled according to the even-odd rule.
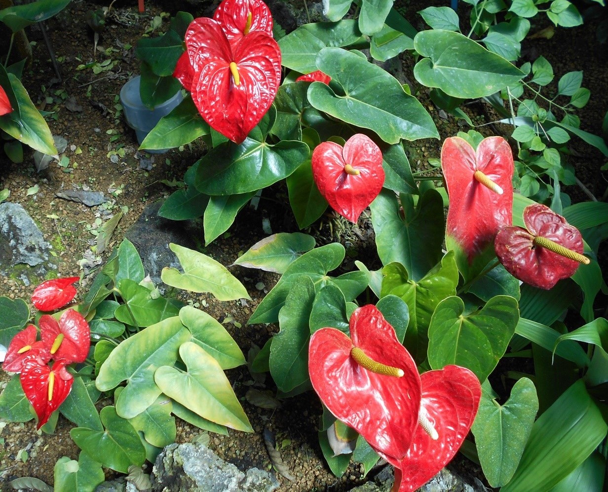
[[582,255],[582,236],[564,217],[540,203],[523,210],[522,227],[505,227],[494,241],[496,256],[515,278],[539,289],[551,289],[576,272]]

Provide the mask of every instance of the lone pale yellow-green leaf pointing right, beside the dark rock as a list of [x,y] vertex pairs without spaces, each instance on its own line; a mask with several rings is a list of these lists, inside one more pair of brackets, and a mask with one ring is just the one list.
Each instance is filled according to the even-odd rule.
[[220,301],[250,299],[243,284],[221,263],[179,244],[170,243],[169,248],[178,257],[184,273],[163,268],[161,279],[165,284],[192,292],[210,292]]

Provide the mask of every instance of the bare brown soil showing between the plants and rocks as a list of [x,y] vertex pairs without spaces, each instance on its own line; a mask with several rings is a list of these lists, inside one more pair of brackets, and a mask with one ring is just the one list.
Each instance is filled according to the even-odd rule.
[[[120,4],[119,4],[120,5]],[[426,7],[427,2],[404,5],[406,16],[409,19],[420,19],[415,12]],[[438,3],[437,5],[443,5]],[[90,254],[90,246],[94,244],[91,230],[98,227],[98,219],[102,222],[107,218],[107,211],[111,213],[119,207],[127,207],[128,212],[123,216],[112,238],[112,244],[119,244],[125,231],[134,224],[149,203],[168,196],[173,189],[161,183],[161,180],[181,180],[185,170],[200,156],[200,145],[188,145],[184,149],[173,149],[167,154],[153,157],[153,167],[146,171],[139,168],[140,161],[136,159],[137,142],[134,132],[123,122],[120,111],[116,109],[120,87],[131,76],[139,72],[139,63],[134,56],[134,47],[137,39],[142,36],[155,15],[166,11],[171,14],[177,10],[190,10],[193,15],[199,14],[199,9],[192,5],[176,5],[164,3],[162,5],[147,2],[146,12],[137,13],[135,5],[118,7],[114,21],[109,22],[103,33],[97,52],[93,52],[93,38],[89,30],[85,15],[88,10],[94,10],[102,5],[86,1],[73,0],[66,10],[50,21],[46,22],[55,55],[58,58],[63,81],[55,79],[49,53],[43,43],[40,32],[36,29],[28,30],[30,41],[36,41],[33,46],[33,63],[26,68],[22,81],[30,97],[41,109],[54,111],[48,119],[49,126],[55,135],[67,139],[66,151],[70,163],[62,168],[58,163],[51,163],[49,169],[37,173],[33,168],[32,157],[26,152],[25,162],[13,165],[5,160],[0,166],[0,190],[11,190],[10,201],[18,202],[30,213],[40,226],[47,241],[54,245],[60,259],[58,274],[60,276],[80,275],[78,261],[84,258],[85,253]],[[201,7],[202,8],[202,7]],[[414,23],[416,27],[416,22]],[[165,18],[160,30],[167,26]],[[544,26],[537,26],[540,29]],[[533,27],[533,30],[535,28]],[[595,134],[601,134],[601,118],[606,112],[608,93],[606,91],[606,53],[597,46],[593,37],[595,35],[593,22],[577,29],[558,29],[556,36],[550,41],[533,41],[525,49],[537,50],[553,64],[555,72],[559,75],[568,70],[584,70],[584,87],[591,92],[591,100],[587,108],[581,112],[582,128]],[[128,47],[130,45],[131,47]],[[604,47],[605,48],[605,47]],[[101,50],[100,50],[101,49]],[[102,50],[107,50],[102,52]],[[580,56],[586,53],[586,56]],[[531,56],[531,58],[535,58]],[[97,75],[91,68],[78,70],[80,64],[91,61],[102,63],[111,60],[113,67]],[[410,60],[411,61],[411,60]],[[410,63],[406,63],[406,66]],[[107,65],[106,65],[107,66]],[[410,80],[414,80],[411,72],[407,72]],[[558,79],[556,77],[556,80]],[[424,92],[424,91],[423,91]],[[82,111],[72,112],[66,108],[66,101],[75,98]],[[432,103],[425,102],[440,128],[442,138],[454,135],[460,131],[461,126],[451,117],[442,119]],[[476,108],[480,123],[487,121],[485,113],[492,115],[487,108]],[[468,111],[469,111],[468,109]],[[465,127],[466,131],[466,127]],[[484,132],[491,132],[489,126],[483,127]],[[409,149],[412,166],[420,168],[427,166],[427,159],[439,157],[440,143],[433,141],[417,142]],[[71,146],[75,146],[71,150]],[[577,173],[583,183],[596,196],[601,197],[606,189],[606,179],[600,173],[599,166],[603,160],[598,151],[584,145],[580,141],[573,141],[573,148],[578,155],[573,157]],[[111,152],[122,152],[114,162]],[[4,157],[0,157],[4,159]],[[32,196],[27,196],[30,186],[39,186],[39,190]],[[59,190],[72,188],[91,188],[102,191],[106,196],[112,195],[112,201],[104,207],[88,208],[55,197]],[[568,190],[570,192],[570,190]],[[277,188],[264,196],[282,194],[284,190]],[[578,190],[573,194],[578,199],[585,199]],[[49,216],[57,215],[58,219]],[[246,251],[261,237],[266,236],[262,230],[262,217],[268,217],[274,231],[296,230],[291,213],[285,214],[271,201],[263,200],[257,212],[245,210],[237,217],[237,222],[210,247],[206,253],[223,264],[231,264],[241,251]],[[364,227],[362,227],[364,229]],[[340,239],[331,237],[328,228],[328,219],[325,217],[323,225],[316,224],[311,231],[316,234],[320,242]],[[344,242],[344,236],[342,236]],[[348,241],[351,241],[349,237]],[[201,239],[202,242],[202,239]],[[108,251],[111,250],[111,246]],[[355,248],[358,246],[354,246]],[[106,257],[107,253],[104,255]],[[360,257],[361,258],[361,257]],[[372,259],[367,255],[364,259],[368,265]],[[253,343],[258,346],[268,340],[274,332],[274,326],[247,326],[246,320],[263,297],[263,291],[258,291],[255,285],[263,282],[266,290],[271,289],[276,276],[258,270],[245,270],[235,268],[237,275],[253,301],[249,306],[241,306],[240,302],[217,302],[210,296],[186,295],[184,300],[203,304],[207,302],[206,311],[216,318],[223,320],[232,316],[235,321],[242,324],[237,329],[234,324],[227,327],[233,337],[247,354]],[[81,293],[86,292],[86,285],[90,278],[85,278]],[[0,295],[10,298],[21,297],[29,299],[33,285],[25,286],[21,281],[3,279],[0,282]],[[204,305],[204,304],[203,304]],[[254,434],[230,432],[229,437],[213,436],[212,446],[219,456],[235,463],[241,468],[258,466],[270,469],[271,463],[264,448],[261,431],[269,427],[275,432],[277,441],[285,440],[282,449],[283,460],[288,464],[292,474],[297,477],[293,483],[278,477],[283,486],[281,491],[311,491],[311,490],[348,490],[354,485],[364,481],[359,465],[351,465],[342,478],[334,477],[320,453],[317,442],[317,423],[320,415],[320,404],[311,394],[300,395],[283,402],[283,406],[276,411],[257,408],[244,400],[244,394],[252,383],[252,378],[246,368],[233,369],[227,373],[237,395],[241,398],[244,409],[249,415]],[[0,372],[0,381],[6,381],[7,375]],[[273,389],[270,377],[266,377],[266,386]],[[0,451],[0,489],[4,490],[7,480],[20,476],[35,476],[47,483],[53,482],[53,466],[61,456],[76,459],[78,448],[69,437],[71,425],[60,417],[57,430],[52,435],[36,432],[33,422],[24,424],[7,424],[0,427],[0,438],[4,440],[4,449]],[[178,442],[188,442],[193,439],[199,429],[192,428],[184,423],[178,426]],[[27,455],[24,454],[24,450]]]

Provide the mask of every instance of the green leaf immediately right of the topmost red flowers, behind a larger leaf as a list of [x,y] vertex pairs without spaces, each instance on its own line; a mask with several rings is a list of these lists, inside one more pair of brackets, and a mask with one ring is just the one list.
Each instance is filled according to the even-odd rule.
[[300,73],[310,73],[317,70],[315,59],[323,48],[353,46],[364,42],[357,21],[345,19],[339,22],[304,24],[279,39],[278,46],[283,66]]

